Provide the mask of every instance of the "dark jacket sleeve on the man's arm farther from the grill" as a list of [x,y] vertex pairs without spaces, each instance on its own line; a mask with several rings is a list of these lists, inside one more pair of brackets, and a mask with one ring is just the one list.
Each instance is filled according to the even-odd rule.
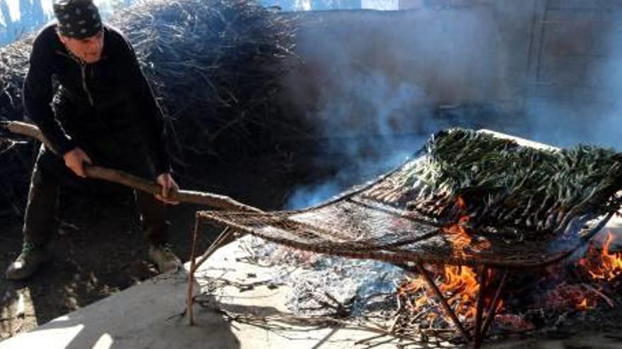
[[30,52],[30,66],[24,80],[23,102],[26,115],[49,140],[60,155],[76,147],[71,137],[61,127],[52,111],[52,68],[49,66],[49,50],[45,37],[35,39]]

